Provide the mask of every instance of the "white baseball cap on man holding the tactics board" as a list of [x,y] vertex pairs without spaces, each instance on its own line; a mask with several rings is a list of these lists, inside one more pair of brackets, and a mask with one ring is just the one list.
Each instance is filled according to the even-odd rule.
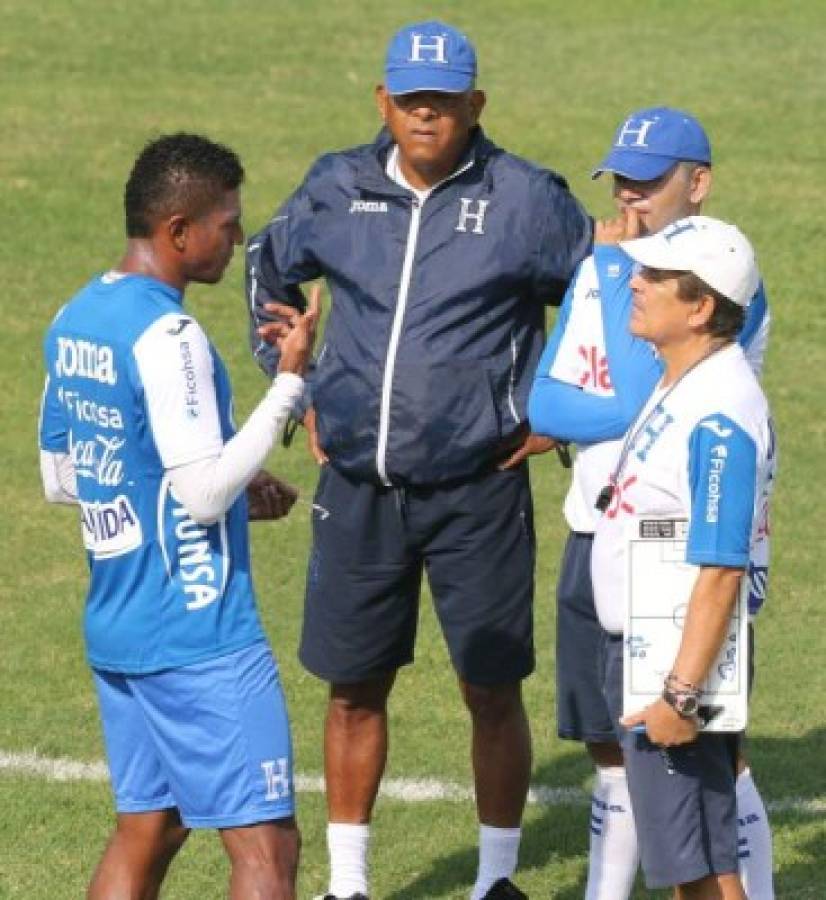
[[738,306],[748,306],[760,283],[754,250],[734,225],[708,216],[688,216],[657,234],[620,247],[643,266],[693,272]]

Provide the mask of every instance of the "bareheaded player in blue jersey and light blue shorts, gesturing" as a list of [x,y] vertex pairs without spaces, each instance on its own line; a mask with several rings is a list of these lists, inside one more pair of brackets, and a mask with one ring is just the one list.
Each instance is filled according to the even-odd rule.
[[244,177],[191,134],[138,156],[126,253],[55,317],[40,424],[47,499],[79,506],[85,612],[117,826],[89,897],[157,897],[191,828],[216,828],[230,896],[293,900],[299,835],[278,668],[250,578],[253,515],[294,497],[261,465],[293,403],[318,317],[283,310],[277,377],[244,426],[226,370],[183,305],[241,243]]

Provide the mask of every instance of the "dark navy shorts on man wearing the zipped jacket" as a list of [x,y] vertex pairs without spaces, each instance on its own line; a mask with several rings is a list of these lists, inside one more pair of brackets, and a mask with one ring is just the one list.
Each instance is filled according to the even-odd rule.
[[456,484],[384,488],[321,470],[302,663],[348,684],[413,661],[427,572],[450,658],[470,684],[534,667],[535,542],[526,466]]

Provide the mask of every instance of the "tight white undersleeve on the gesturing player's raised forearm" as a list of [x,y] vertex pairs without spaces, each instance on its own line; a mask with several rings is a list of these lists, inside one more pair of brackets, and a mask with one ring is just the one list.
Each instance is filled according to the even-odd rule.
[[196,522],[211,525],[232,506],[261,468],[303,390],[302,378],[282,372],[219,455],[169,470],[175,495]]

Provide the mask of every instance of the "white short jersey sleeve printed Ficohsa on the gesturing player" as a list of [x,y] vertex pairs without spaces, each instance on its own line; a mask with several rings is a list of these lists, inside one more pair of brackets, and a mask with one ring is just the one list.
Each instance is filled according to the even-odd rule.
[[223,446],[212,353],[190,316],[161,316],[133,348],[155,446],[165,469],[218,456]]

